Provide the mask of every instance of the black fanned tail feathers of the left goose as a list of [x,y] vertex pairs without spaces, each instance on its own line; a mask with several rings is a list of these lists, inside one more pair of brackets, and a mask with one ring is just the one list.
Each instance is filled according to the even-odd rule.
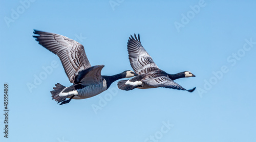
[[65,89],[66,87],[57,83],[55,84],[56,87],[53,87],[54,90],[51,91],[52,93],[52,100],[55,99],[55,101],[57,101],[58,103],[62,102],[62,101],[65,101],[66,98],[72,96],[72,95],[67,95],[67,96],[59,96],[59,93]]

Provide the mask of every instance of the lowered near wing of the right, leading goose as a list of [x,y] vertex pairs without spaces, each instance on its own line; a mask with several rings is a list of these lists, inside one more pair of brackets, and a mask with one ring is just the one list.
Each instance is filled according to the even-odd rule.
[[165,87],[165,88],[172,88],[178,90],[186,90],[178,83],[174,82],[173,80],[169,79],[168,77],[161,76],[156,78],[145,79],[143,82],[146,85],[154,86],[154,87]]

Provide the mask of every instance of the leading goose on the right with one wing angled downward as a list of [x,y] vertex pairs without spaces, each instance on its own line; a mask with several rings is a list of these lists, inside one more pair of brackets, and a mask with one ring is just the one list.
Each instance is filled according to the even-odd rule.
[[[135,37],[135,38],[134,38]],[[121,90],[132,90],[134,88],[147,89],[147,88],[173,88],[178,90],[186,90],[174,80],[186,77],[195,77],[191,72],[185,71],[178,74],[167,74],[163,70],[159,69],[151,56],[146,52],[140,42],[140,35],[138,38],[134,34],[131,35],[127,43],[127,49],[129,54],[129,60],[136,76],[130,80],[119,81],[118,88]],[[187,90],[193,92],[196,89]]]

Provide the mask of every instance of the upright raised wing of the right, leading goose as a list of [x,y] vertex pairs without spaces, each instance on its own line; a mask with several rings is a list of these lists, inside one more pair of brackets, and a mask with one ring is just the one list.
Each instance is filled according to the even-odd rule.
[[135,73],[142,75],[148,73],[147,68],[158,68],[156,63],[151,58],[151,56],[146,52],[146,50],[141,45],[140,34],[138,35],[138,38],[136,37],[135,34],[134,37],[132,35],[131,37],[129,37],[127,49],[129,54],[129,60]]

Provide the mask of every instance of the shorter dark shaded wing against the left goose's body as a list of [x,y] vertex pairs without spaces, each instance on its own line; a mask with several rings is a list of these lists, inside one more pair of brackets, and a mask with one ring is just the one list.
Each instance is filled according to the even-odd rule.
[[95,65],[88,69],[84,69],[75,77],[74,83],[82,85],[99,84],[102,82],[101,70],[104,65]]

